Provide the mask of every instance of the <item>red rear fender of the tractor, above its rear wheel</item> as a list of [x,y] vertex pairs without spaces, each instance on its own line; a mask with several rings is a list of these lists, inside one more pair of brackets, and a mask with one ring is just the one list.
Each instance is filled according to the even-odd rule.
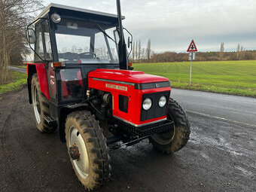
[[27,74],[30,82],[32,80],[33,74],[29,70],[29,66],[35,66],[36,72],[38,74],[38,81],[39,81],[41,93],[43,93],[44,96],[47,97],[47,99],[50,99],[45,63],[27,63],[26,65],[27,65]]

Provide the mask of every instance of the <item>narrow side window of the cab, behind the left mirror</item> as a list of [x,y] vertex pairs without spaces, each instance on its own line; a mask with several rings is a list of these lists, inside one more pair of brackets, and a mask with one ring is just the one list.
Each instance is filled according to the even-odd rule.
[[[35,52],[44,60],[52,60],[53,54],[50,44],[50,34],[47,20],[39,21],[35,26],[37,41],[35,42]],[[40,57],[35,54],[35,61],[41,61]]]

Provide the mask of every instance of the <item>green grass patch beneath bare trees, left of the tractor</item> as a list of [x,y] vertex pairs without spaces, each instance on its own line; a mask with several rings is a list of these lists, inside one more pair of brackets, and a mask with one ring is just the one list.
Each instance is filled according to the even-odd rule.
[[3,93],[8,93],[12,90],[19,89],[23,84],[26,84],[26,74],[20,73],[20,72],[12,72],[9,71],[12,81],[8,84],[2,84],[0,85],[0,95]]

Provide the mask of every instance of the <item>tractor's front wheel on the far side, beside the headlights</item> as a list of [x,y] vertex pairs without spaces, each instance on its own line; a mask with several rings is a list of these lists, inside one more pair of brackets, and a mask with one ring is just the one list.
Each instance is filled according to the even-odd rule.
[[169,99],[167,119],[174,121],[174,130],[168,133],[154,134],[150,137],[150,142],[158,151],[172,154],[187,144],[190,136],[190,123],[181,105],[171,98]]

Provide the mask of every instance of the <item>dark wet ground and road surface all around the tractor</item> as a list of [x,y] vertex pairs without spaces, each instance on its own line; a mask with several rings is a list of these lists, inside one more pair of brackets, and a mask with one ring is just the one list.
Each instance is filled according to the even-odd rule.
[[[244,115],[256,99],[172,95],[191,123],[185,148],[163,155],[145,140],[111,151],[112,179],[99,191],[256,191],[256,123]],[[36,130],[26,88],[0,100],[0,191],[84,191],[58,133]]]

